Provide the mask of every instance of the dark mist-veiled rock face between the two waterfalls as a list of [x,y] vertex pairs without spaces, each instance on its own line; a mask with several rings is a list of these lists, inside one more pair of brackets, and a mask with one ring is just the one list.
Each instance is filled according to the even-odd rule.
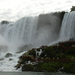
[[[65,12],[55,12],[39,15],[36,39],[40,40],[41,44],[48,45],[58,39],[64,14]],[[40,45],[39,42],[38,45]]]

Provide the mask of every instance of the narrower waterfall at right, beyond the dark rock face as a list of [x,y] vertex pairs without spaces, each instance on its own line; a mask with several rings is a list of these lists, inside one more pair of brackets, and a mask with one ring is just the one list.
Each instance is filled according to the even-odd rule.
[[75,40],[75,11],[65,13],[60,31],[60,40],[73,38]]

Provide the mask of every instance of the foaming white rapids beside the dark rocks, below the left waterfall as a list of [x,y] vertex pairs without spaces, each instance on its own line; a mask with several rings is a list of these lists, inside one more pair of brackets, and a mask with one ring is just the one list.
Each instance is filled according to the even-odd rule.
[[12,56],[8,58],[3,57],[4,60],[0,61],[0,71],[4,71],[4,72],[21,71],[21,69],[16,70],[14,66],[17,64],[19,56],[21,56],[23,53],[25,53],[25,51],[19,54],[13,53]]

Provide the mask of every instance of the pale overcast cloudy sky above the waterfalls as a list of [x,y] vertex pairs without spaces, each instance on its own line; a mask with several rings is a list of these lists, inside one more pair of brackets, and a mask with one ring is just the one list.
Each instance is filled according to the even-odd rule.
[[16,21],[41,13],[70,11],[75,0],[0,0],[0,21]]

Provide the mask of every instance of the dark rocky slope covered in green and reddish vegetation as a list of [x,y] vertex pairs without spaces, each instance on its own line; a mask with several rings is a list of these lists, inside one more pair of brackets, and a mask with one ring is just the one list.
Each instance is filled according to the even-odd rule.
[[22,67],[22,71],[75,73],[75,41],[33,48],[19,57],[15,67]]

